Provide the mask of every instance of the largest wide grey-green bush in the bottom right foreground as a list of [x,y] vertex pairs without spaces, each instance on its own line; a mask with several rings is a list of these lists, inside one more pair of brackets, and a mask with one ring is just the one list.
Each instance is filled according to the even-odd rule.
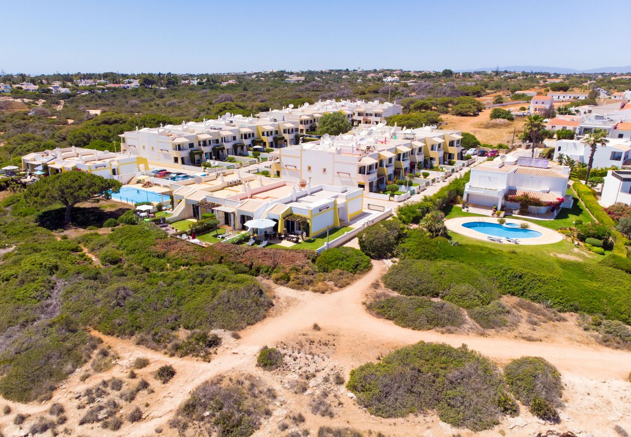
[[504,414],[500,399],[507,395],[497,366],[485,357],[466,345],[424,342],[351,370],[346,386],[357,403],[375,416],[405,417],[435,410],[440,420],[472,431],[498,423]]

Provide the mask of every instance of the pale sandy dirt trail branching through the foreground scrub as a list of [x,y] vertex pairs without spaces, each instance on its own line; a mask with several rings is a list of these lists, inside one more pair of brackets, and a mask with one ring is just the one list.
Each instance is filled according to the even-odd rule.
[[[532,355],[544,357],[557,366],[567,386],[567,400],[573,404],[572,409],[568,409],[568,411],[575,416],[574,424],[577,426],[589,426],[590,420],[596,421],[597,419],[599,423],[602,423],[599,426],[606,426],[611,420],[609,416],[606,416],[607,414],[625,417],[625,414],[628,413],[626,407],[623,407],[620,402],[623,398],[629,397],[629,393],[627,393],[628,382],[625,382],[624,379],[631,370],[631,352],[607,349],[599,345],[569,344],[565,340],[528,342],[516,338],[444,334],[435,331],[420,332],[401,328],[390,321],[370,315],[363,305],[367,294],[374,292],[371,284],[385,272],[384,263],[373,261],[373,268],[367,275],[346,289],[331,294],[314,294],[308,291],[276,286],[276,314],[273,313],[260,323],[240,332],[241,338],[239,340],[226,341],[221,345],[211,362],[202,362],[189,357],[168,357],[162,352],[138,346],[134,344],[133,340],[109,337],[93,332],[93,335],[102,338],[107,345],[112,347],[112,350],[116,351],[120,356],[118,364],[121,365],[115,366],[106,373],[95,374],[83,382],[79,381],[80,372],[75,372],[56,391],[52,402],[71,402],[74,393],[85,390],[88,386],[93,386],[95,381],[111,376],[124,377],[134,358],[148,357],[151,364],[148,368],[143,369],[148,375],[147,378],[150,378],[150,374],[163,364],[172,364],[177,374],[165,386],[159,386],[159,383],[151,378],[152,386],[156,389],[156,393],[148,399],[151,407],[147,409],[142,424],[130,428],[126,427],[124,435],[146,436],[152,434],[155,428],[163,428],[165,434],[170,435],[171,431],[168,431],[166,422],[174,415],[177,407],[186,400],[189,393],[203,381],[220,373],[244,371],[259,374],[273,385],[274,374],[264,373],[256,368],[258,350],[264,345],[276,345],[282,341],[291,342],[307,332],[312,333],[314,332],[312,325],[317,323],[322,328],[321,335],[331,335],[335,338],[336,349],[333,359],[346,374],[358,364],[375,361],[377,356],[420,340],[444,342],[453,346],[467,344],[471,349],[477,350],[500,364],[505,364],[510,359],[517,357]],[[592,394],[589,395],[589,393]],[[285,396],[288,398],[288,405],[293,405],[294,408],[298,409],[304,407],[305,401],[300,395],[292,398],[291,394],[285,393]],[[620,399],[617,398],[618,396]],[[346,397],[343,396],[343,398]],[[421,416],[420,422],[408,419],[380,419],[365,413],[352,400],[344,399],[344,402],[346,404],[344,413],[332,422],[329,419],[310,417],[311,415],[308,414],[310,426],[319,422],[345,426],[346,421],[348,421],[350,426],[357,428],[370,426],[370,429],[381,429],[389,435],[422,434],[423,431],[429,432],[430,428],[434,435],[441,435],[441,429],[447,432],[447,429],[444,429],[445,424],[441,424],[432,415]],[[42,414],[49,407],[49,404],[19,405],[12,402],[8,402],[8,404],[16,411],[33,415]],[[604,411],[605,408],[607,408],[606,412]],[[78,417],[82,413],[76,410],[68,413],[68,425],[76,426]],[[305,414],[307,414],[306,411]],[[598,416],[589,419],[590,414],[592,416],[599,414],[603,417]],[[538,426],[536,422],[532,422],[531,417],[522,417],[526,417],[530,421],[531,429],[533,426]],[[0,424],[2,422],[0,418]],[[261,429],[259,433],[269,433],[272,429],[276,429],[275,426],[276,424],[269,424],[268,428]],[[390,428],[392,426],[396,428]],[[8,425],[5,428],[5,433],[15,435],[11,433],[11,431],[15,431],[13,428],[15,426]],[[92,430],[103,435],[110,434],[108,431],[97,428],[96,424]],[[516,429],[512,429],[512,432],[516,431]],[[592,430],[590,429],[590,431]],[[526,428],[517,434],[522,435],[525,432]],[[489,431],[489,433],[488,435],[497,435],[497,431]],[[469,433],[464,435],[469,435]],[[483,433],[483,435],[487,435],[487,433]]]

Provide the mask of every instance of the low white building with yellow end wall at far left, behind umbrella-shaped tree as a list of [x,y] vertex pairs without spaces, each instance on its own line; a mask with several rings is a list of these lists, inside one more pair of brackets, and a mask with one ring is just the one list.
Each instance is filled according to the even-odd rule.
[[149,170],[149,163],[143,157],[66,147],[28,153],[22,157],[22,168],[29,172],[43,172],[49,176],[72,170],[83,171],[126,184],[138,172]]

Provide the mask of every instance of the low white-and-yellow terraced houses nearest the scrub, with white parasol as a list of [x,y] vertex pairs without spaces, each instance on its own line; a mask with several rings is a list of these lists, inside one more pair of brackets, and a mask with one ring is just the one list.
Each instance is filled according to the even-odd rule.
[[252,219],[276,222],[273,230],[317,236],[363,212],[363,190],[351,186],[290,183],[225,171],[172,184],[175,208],[170,221],[215,213],[220,225],[245,229]]

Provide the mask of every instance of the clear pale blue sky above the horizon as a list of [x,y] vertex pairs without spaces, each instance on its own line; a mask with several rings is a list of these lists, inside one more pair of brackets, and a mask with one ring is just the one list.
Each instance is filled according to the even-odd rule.
[[631,65],[628,0],[32,0],[3,13],[11,73]]

